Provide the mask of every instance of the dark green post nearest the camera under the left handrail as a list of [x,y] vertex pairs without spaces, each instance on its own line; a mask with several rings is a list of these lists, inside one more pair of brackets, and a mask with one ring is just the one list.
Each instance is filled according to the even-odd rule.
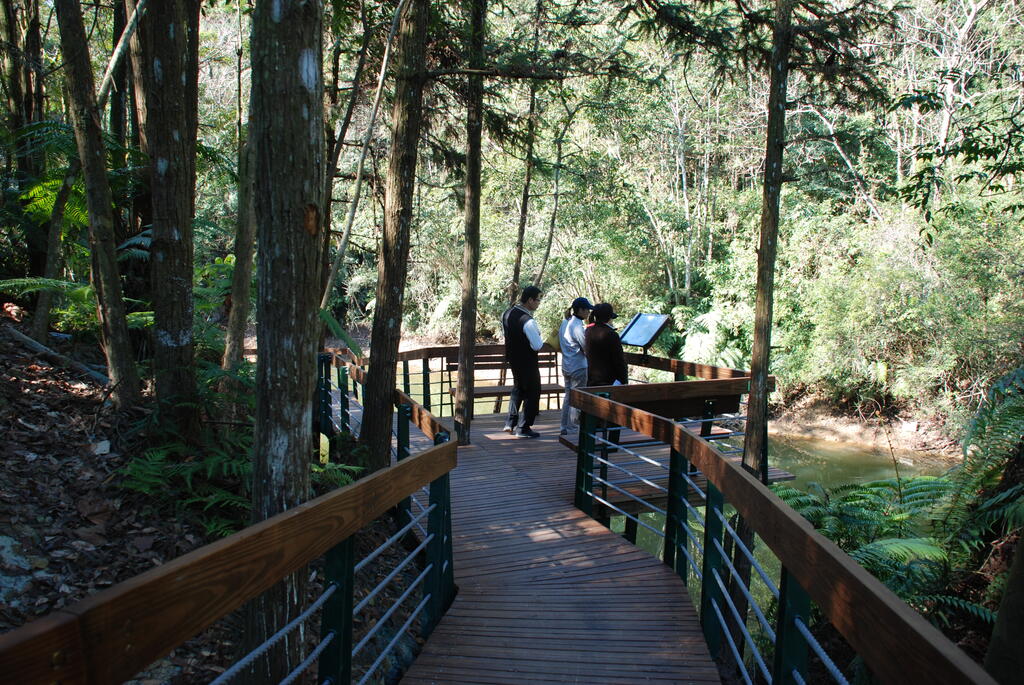
[[325,557],[327,583],[337,583],[338,589],[324,604],[321,635],[334,631],[335,637],[321,654],[317,683],[331,680],[347,685],[352,679],[352,569],[354,568],[353,538],[331,548]]

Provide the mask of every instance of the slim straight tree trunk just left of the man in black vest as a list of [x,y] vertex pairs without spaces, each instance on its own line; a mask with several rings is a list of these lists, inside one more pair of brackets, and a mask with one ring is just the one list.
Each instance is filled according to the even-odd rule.
[[[469,67],[483,69],[487,0],[468,0]],[[476,285],[480,270],[480,138],[483,77],[468,78],[466,97],[466,244],[462,257],[462,314],[459,323],[459,383],[455,430],[459,444],[469,444],[473,420],[473,353],[476,348]]]

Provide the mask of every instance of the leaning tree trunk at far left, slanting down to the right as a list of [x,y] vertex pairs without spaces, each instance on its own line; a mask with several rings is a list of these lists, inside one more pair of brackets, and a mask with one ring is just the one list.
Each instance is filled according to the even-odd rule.
[[140,388],[129,345],[121,277],[115,256],[114,203],[106,180],[106,153],[100,137],[99,112],[96,109],[82,8],[78,0],[56,0],[54,7],[60,26],[60,46],[72,103],[75,140],[85,175],[92,286],[96,292],[96,314],[106,355],[108,375],[113,384],[112,398],[118,408],[128,408],[138,403]]

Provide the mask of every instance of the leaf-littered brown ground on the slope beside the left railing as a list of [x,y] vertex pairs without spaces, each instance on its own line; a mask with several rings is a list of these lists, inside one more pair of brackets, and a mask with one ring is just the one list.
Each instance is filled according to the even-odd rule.
[[[156,508],[146,496],[120,486],[129,451],[144,446],[132,433],[145,415],[118,415],[105,400],[93,381],[41,360],[0,323],[0,633],[213,542],[190,517]],[[381,519],[359,533],[356,553],[367,554],[392,532],[391,521]],[[356,597],[366,596],[394,567],[393,557],[403,554],[383,554],[377,568],[357,579]],[[315,597],[323,575],[317,564],[308,570]],[[382,593],[383,601],[356,622],[356,639],[402,589],[403,581]],[[309,640],[318,625],[313,616]],[[243,626],[240,609],[131,683],[210,682],[239,657]],[[386,631],[384,637],[390,637]],[[399,658],[385,665],[388,682],[417,650],[411,639],[399,646]]]

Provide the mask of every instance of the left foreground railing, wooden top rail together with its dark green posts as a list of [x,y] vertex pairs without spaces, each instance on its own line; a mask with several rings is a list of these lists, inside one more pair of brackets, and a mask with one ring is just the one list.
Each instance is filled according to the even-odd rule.
[[396,391],[395,402],[418,408],[410,414],[436,444],[0,636],[0,680],[18,685],[121,683],[281,579],[326,556],[328,580],[338,587],[325,605],[322,635],[334,631],[339,639],[321,655],[321,674],[335,683],[347,682],[352,536],[424,486],[431,498],[429,512],[423,514],[429,514],[429,530],[424,530],[429,540],[422,545],[429,566],[421,575],[424,632],[429,634],[454,594],[447,474],[456,466],[457,445],[445,441],[440,423],[403,393]]

